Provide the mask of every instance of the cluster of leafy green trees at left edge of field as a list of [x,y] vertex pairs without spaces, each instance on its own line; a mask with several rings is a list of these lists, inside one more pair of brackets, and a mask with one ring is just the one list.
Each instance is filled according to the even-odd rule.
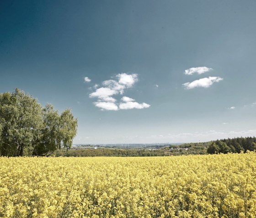
[[0,156],[48,156],[70,148],[76,131],[71,110],[59,114],[19,89],[0,93]]

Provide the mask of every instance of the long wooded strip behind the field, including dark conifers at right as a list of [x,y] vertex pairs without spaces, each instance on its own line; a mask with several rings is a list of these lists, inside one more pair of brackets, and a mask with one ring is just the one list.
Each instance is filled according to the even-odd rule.
[[211,142],[185,143],[182,145],[169,145],[160,149],[121,149],[97,148],[94,149],[58,149],[53,152],[55,157],[150,157],[150,156],[177,156],[202,155],[218,153],[240,153],[256,150],[256,137],[240,137],[220,139]]

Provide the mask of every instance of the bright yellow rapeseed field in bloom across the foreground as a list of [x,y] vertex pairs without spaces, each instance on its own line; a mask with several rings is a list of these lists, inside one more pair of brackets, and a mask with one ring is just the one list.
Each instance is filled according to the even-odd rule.
[[255,218],[256,153],[0,157],[1,218]]

